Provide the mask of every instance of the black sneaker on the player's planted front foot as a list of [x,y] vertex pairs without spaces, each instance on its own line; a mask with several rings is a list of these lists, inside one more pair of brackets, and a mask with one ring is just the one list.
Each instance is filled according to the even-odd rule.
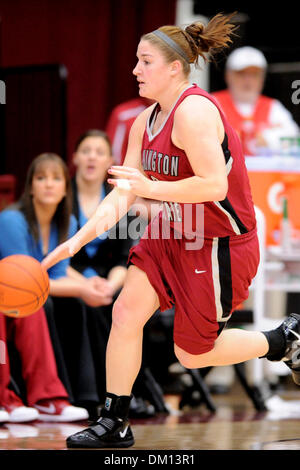
[[89,428],[67,438],[68,448],[130,447],[134,437],[127,420],[101,417]]

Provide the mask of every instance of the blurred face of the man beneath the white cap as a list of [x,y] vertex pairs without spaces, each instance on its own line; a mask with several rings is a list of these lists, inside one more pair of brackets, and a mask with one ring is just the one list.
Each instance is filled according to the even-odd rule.
[[228,71],[226,82],[234,99],[243,103],[254,103],[264,86],[265,72],[259,67],[247,67],[239,71]]

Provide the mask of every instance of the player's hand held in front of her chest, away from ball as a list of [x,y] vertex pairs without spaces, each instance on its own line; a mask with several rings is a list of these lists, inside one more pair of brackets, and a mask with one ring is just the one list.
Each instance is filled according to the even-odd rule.
[[139,197],[151,197],[153,181],[146,178],[137,168],[114,165],[110,167],[108,173],[117,177],[116,179],[109,178],[107,180],[109,184],[127,189]]

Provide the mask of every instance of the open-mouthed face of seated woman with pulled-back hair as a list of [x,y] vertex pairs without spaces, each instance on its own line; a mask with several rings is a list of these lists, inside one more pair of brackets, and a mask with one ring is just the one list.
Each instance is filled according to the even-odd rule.
[[110,147],[103,137],[86,137],[74,153],[73,163],[83,180],[102,182],[113,163]]

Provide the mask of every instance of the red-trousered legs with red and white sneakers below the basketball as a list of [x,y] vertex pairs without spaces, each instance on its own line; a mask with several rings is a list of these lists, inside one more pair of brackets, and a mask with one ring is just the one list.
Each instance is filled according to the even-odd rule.
[[[2,221],[0,226],[2,228]],[[2,414],[6,412],[3,421],[24,423],[40,419],[68,422],[88,418],[84,408],[71,406],[66,389],[58,378],[44,309],[18,319],[0,313],[0,337],[5,345],[13,342],[19,353],[27,395],[25,405],[11,388],[13,370],[6,347],[5,363],[0,368],[0,409]]]

